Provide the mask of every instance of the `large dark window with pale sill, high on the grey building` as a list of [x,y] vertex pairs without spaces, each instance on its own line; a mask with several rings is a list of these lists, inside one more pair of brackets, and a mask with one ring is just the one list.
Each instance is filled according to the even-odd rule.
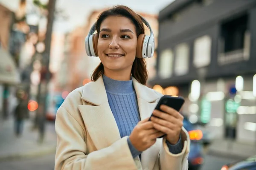
[[250,57],[248,15],[221,25],[218,63],[221,65],[248,60]]

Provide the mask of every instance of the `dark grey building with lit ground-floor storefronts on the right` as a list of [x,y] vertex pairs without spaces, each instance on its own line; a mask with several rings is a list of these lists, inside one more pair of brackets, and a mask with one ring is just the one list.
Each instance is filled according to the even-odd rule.
[[[159,14],[158,91],[215,138],[256,142],[256,0],[176,0]],[[176,91],[177,92],[177,91]]]

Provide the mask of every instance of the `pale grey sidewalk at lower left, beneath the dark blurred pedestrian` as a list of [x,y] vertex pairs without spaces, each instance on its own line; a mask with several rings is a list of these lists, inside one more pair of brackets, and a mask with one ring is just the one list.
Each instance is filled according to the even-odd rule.
[[56,135],[54,123],[47,122],[45,140],[42,144],[37,142],[38,131],[31,130],[31,120],[24,122],[23,134],[20,138],[17,138],[14,134],[13,119],[10,118],[0,123],[0,161],[55,153]]

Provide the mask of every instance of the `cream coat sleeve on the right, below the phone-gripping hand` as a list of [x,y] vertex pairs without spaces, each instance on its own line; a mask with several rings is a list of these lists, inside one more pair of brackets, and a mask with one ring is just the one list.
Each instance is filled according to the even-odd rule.
[[159,154],[160,170],[188,170],[190,139],[184,127],[182,127],[181,139],[183,142],[182,152],[173,154],[169,152],[169,148],[166,144],[166,137],[163,138],[163,144]]

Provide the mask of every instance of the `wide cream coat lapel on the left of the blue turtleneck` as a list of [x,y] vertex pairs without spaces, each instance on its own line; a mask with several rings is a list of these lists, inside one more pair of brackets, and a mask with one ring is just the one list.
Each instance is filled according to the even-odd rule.
[[102,77],[99,77],[96,82],[84,85],[81,99],[87,104],[79,105],[79,111],[97,150],[108,147],[119,140],[120,133],[108,104]]

